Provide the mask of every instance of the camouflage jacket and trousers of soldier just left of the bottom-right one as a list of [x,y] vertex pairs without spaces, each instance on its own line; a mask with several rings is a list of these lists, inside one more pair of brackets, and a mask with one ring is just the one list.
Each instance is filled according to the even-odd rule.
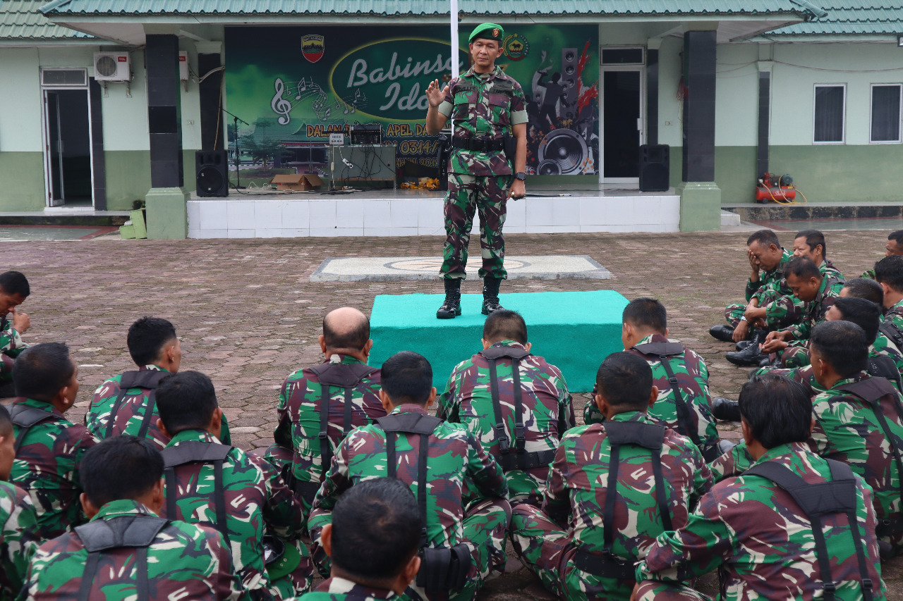
[[[615,415],[609,423],[581,426],[562,439],[545,487],[542,510],[520,504],[514,509],[511,541],[517,555],[555,595],[567,599],[627,601],[633,589],[633,562],[646,555],[660,532],[686,523],[689,506],[712,485],[699,450],[674,430],[650,426],[664,436],[660,450],[635,444],[613,446],[615,424],[654,424],[638,411]],[[612,448],[618,470],[610,474]],[[661,482],[652,453],[659,454]],[[617,495],[609,497],[610,477]],[[658,495],[662,496],[659,497]],[[660,501],[667,506],[663,517]],[[609,516],[613,532],[605,532]],[[602,562],[606,543],[623,566],[623,578],[585,571]],[[589,565],[584,557],[589,555]]]

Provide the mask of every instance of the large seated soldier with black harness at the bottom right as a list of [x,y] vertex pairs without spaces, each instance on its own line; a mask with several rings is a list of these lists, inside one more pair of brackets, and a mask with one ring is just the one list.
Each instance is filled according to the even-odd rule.
[[637,566],[636,598],[708,599],[685,583],[721,569],[725,599],[827,599],[835,587],[836,599],[885,599],[870,488],[807,448],[805,388],[756,375],[740,391],[740,413],[755,466],[714,485],[684,526],[658,536]]

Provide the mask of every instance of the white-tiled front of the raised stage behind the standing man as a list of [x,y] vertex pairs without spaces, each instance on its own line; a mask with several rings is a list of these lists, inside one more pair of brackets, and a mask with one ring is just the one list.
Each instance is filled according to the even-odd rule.
[[[506,234],[676,232],[675,191],[536,190],[507,203]],[[242,190],[225,198],[192,196],[190,238],[444,236],[443,192],[356,190],[348,194]],[[474,218],[473,231],[478,231]]]

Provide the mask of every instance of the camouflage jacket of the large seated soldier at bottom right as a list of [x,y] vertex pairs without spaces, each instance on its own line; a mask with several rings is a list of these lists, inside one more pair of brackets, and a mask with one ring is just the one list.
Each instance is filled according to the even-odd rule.
[[[770,448],[759,462],[775,461],[806,482],[830,479],[823,458],[792,443]],[[856,517],[864,539],[873,599],[885,599],[869,486],[856,477]],[[786,491],[762,476],[724,480],[704,495],[689,521],[676,532],[658,536],[637,566],[637,580],[686,582],[723,568],[724,601],[817,599],[822,581],[815,542],[805,513]],[[822,520],[838,601],[862,598],[860,572],[844,513]]]

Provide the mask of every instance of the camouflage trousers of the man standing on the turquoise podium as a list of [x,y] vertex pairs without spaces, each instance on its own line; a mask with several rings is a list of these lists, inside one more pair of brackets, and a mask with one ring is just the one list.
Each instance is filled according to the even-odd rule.
[[475,212],[479,212],[479,248],[483,258],[479,277],[507,278],[502,226],[511,179],[510,175],[449,173],[444,205],[445,245],[439,271],[443,278],[451,280],[466,275],[467,245]]

